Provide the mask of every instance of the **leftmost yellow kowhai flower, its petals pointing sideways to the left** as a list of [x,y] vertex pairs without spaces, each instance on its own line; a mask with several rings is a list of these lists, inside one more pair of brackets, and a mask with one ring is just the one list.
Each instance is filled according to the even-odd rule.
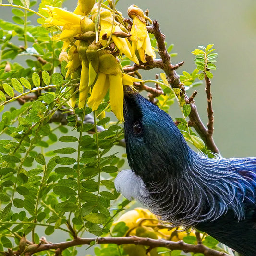
[[55,35],[52,40],[65,40],[87,31],[94,31],[94,23],[87,16],[77,15],[62,8],[49,5],[44,9],[49,13],[49,17],[45,22],[62,27],[61,34]]

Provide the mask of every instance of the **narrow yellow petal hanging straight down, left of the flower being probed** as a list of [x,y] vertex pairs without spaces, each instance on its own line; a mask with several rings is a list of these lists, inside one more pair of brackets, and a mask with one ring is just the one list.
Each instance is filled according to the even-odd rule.
[[82,63],[82,70],[81,70],[81,77],[80,77],[80,85],[79,85],[79,101],[78,101],[78,108],[82,109],[85,105],[87,95],[89,92],[90,87],[88,86],[89,83],[89,69]]

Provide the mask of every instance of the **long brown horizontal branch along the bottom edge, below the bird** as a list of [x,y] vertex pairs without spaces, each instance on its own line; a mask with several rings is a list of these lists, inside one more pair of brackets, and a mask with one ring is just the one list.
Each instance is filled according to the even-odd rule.
[[[182,250],[185,253],[202,253],[205,256],[230,256],[229,254],[219,252],[210,248],[207,248],[203,244],[187,244],[182,240],[178,242],[167,241],[164,239],[151,239],[145,237],[99,237],[97,238],[77,238],[71,241],[56,243],[56,244],[41,244],[39,247],[35,246],[35,250],[30,252],[29,255],[32,255],[37,252],[48,251],[56,249],[58,251],[63,251],[69,247],[77,246],[77,245],[85,245],[90,244],[91,242],[96,242],[97,244],[135,244],[135,245],[144,245],[149,246],[150,248],[156,247],[165,247],[169,250]],[[16,255],[19,255],[19,252],[14,252]]]

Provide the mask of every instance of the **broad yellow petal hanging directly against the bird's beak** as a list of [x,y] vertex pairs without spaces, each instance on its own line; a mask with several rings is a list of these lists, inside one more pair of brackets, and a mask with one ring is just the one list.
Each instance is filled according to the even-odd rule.
[[109,75],[110,80],[110,106],[118,120],[123,118],[123,85],[122,75]]

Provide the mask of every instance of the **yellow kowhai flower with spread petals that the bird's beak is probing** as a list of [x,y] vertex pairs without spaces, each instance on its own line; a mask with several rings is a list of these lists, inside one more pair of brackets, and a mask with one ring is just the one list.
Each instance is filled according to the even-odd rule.
[[[103,50],[100,52],[103,52]],[[143,80],[122,73],[117,59],[112,54],[106,52],[104,51],[103,54],[101,53],[98,56],[98,78],[93,86],[88,105],[93,111],[97,110],[109,89],[111,110],[120,121],[124,121],[123,84],[133,85],[133,82]],[[97,70],[94,64],[93,66]]]

